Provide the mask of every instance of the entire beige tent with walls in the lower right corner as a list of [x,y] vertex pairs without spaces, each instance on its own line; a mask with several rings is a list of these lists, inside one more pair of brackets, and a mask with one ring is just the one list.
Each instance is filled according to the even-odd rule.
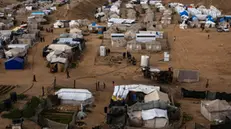
[[201,101],[201,114],[209,121],[225,120],[231,116],[231,106],[225,100]]

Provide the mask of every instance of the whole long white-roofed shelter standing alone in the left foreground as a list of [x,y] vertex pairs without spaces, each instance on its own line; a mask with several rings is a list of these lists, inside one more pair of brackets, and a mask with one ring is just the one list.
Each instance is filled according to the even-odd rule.
[[61,99],[61,104],[68,105],[90,105],[94,102],[92,93],[87,89],[60,89],[55,92],[58,98]]

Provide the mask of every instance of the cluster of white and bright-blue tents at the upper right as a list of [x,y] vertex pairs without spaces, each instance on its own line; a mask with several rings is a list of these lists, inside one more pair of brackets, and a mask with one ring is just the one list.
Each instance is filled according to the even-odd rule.
[[[222,23],[222,26],[224,26],[230,19],[228,16],[223,16],[221,11],[212,5],[210,8],[206,8],[203,5],[194,6],[193,4],[169,3],[169,7],[173,8],[180,15],[180,28],[182,29],[187,28],[188,25],[191,27],[205,26],[209,28]],[[225,24],[225,27],[227,27],[227,24]]]

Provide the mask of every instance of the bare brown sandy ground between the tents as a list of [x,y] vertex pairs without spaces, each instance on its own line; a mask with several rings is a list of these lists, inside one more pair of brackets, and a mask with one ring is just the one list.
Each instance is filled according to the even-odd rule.
[[[61,7],[61,10],[58,11],[59,13],[55,13],[54,16],[58,19],[78,19],[85,16],[86,18],[93,19],[94,9],[98,5],[99,1],[92,5],[89,2],[87,4],[82,3],[80,6],[76,6],[75,10],[69,12],[67,17],[65,17],[65,13],[60,14],[60,12],[65,12],[63,10],[65,7]],[[153,66],[172,66],[174,69],[199,70],[200,82],[178,84],[178,88],[186,87],[188,89],[204,90],[206,79],[208,78],[210,79],[209,90],[231,92],[231,70],[229,69],[231,60],[231,52],[229,50],[231,47],[229,43],[231,40],[230,33],[218,33],[211,30],[209,33],[211,38],[208,39],[208,33],[201,32],[199,29],[180,30],[178,26],[174,27],[174,25],[171,25],[166,31],[169,32],[170,40],[173,36],[177,37],[175,42],[171,42],[171,61],[169,63],[160,62],[159,60],[163,58],[163,53],[151,54],[151,64]],[[113,87],[111,86],[112,81],[115,81],[116,84],[155,84],[143,79],[138,66],[95,66],[94,59],[101,40],[97,38],[98,35],[94,34],[86,37],[87,48],[84,52],[83,60],[78,68],[70,71],[70,79],[66,79],[65,73],[49,73],[46,61],[42,58],[42,49],[62,32],[64,32],[63,29],[57,29],[54,31],[54,34],[44,33],[46,42],[38,43],[31,49],[29,66],[25,70],[5,71],[4,62],[1,62],[0,83],[19,84],[20,87],[16,88],[15,91],[22,92],[31,86],[32,77],[35,74],[37,82],[35,82],[34,86],[26,94],[38,96],[41,95],[42,86],[52,86],[54,77],[57,78],[57,84],[59,85],[72,87],[74,80],[76,80],[77,88],[87,88],[94,93],[95,82],[98,80],[105,82],[107,85],[106,90],[96,93],[96,107],[93,109],[93,113],[88,115],[86,119],[89,126],[94,126],[104,121],[103,107],[108,104],[113,91]],[[139,55],[137,55],[137,59],[139,60],[140,57],[138,57]],[[176,85],[172,87],[176,87]],[[187,123],[187,129],[193,127],[194,122],[208,124],[208,121],[200,114],[200,104],[198,102],[198,100],[180,100],[183,111],[191,114],[194,118],[192,122]],[[8,122],[8,120],[0,118],[0,128],[4,128]]]

